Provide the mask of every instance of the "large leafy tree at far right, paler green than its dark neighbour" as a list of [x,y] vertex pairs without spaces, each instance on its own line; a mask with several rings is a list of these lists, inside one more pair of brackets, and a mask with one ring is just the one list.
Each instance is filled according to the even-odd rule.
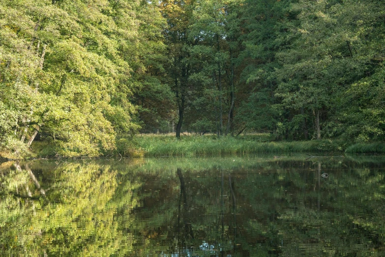
[[[383,135],[381,101],[372,100],[382,98],[377,90],[383,84],[378,75],[383,70],[384,6],[377,0],[323,0],[299,1],[292,8],[299,13],[300,24],[291,32],[296,40],[279,53],[283,65],[276,72],[277,95],[293,113],[290,123],[304,110],[313,116],[317,139],[322,130],[363,141]],[[369,96],[360,88],[370,88]],[[367,96],[353,100],[357,93]]]

